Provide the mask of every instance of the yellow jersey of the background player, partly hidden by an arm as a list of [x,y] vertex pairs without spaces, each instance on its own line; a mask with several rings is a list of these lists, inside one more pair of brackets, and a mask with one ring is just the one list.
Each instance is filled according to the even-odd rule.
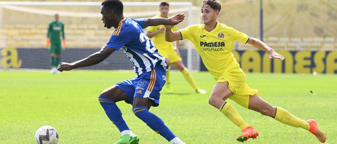
[[[160,14],[154,16],[154,17],[160,17]],[[167,18],[169,18],[167,16]],[[155,32],[157,31],[160,27],[164,27],[164,25],[159,25],[159,26],[151,26],[151,27],[148,27],[147,28],[147,31],[148,32]],[[173,28],[172,28],[173,31],[177,31],[177,25],[175,25]],[[173,49],[173,43],[172,42],[167,42],[165,40],[165,35],[164,33],[158,33],[156,34],[154,37],[153,37],[153,43],[154,45],[158,48],[158,50],[161,50],[161,49],[168,49],[168,48],[172,48]]]

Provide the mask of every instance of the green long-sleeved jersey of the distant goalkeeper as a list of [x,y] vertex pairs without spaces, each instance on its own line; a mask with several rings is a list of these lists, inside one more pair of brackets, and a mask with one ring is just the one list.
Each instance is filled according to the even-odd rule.
[[51,21],[48,27],[47,38],[50,39],[52,44],[61,43],[61,32],[64,39],[64,23],[61,21],[55,22],[55,20]]

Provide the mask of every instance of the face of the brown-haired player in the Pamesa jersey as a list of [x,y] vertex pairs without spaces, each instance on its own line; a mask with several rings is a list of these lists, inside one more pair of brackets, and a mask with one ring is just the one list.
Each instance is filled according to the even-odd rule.
[[201,8],[202,19],[205,25],[210,24],[211,22],[216,21],[219,11],[215,11],[208,4],[204,4]]

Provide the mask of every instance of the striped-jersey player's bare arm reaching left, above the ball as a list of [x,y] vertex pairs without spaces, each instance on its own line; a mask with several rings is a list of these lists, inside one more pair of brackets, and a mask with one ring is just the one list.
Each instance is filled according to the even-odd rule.
[[96,65],[106,58],[108,58],[111,53],[113,53],[116,49],[111,48],[111,47],[106,47],[103,46],[100,51],[93,53],[89,57],[73,62],[73,63],[60,63],[59,66],[57,67],[57,70],[60,72],[62,71],[70,71],[75,68],[82,68],[82,67],[88,67],[92,65]]

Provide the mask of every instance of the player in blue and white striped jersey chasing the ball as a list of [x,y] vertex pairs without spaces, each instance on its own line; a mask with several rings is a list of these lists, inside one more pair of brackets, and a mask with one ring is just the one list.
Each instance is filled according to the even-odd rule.
[[134,65],[136,77],[118,82],[103,91],[98,101],[106,115],[121,132],[121,139],[116,144],[137,144],[139,138],[131,132],[115,104],[125,101],[132,104],[133,113],[143,120],[153,131],[163,136],[170,143],[183,144],[164,122],[149,112],[151,106],[159,105],[160,91],[166,81],[166,60],[158,54],[153,42],[143,29],[148,26],[177,25],[184,20],[184,14],[176,14],[168,19],[162,17],[148,19],[130,19],[123,16],[123,4],[120,0],[104,0],[101,6],[101,20],[104,27],[114,27],[110,40],[100,51],[89,57],[73,62],[61,63],[59,71],[92,66],[108,58],[115,50],[123,49]]

